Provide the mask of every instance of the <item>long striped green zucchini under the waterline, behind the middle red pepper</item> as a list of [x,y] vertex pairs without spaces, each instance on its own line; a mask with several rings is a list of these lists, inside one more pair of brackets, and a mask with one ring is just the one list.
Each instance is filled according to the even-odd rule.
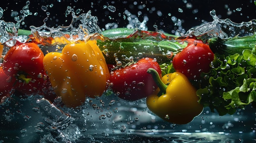
[[141,31],[135,29],[110,29],[102,32],[103,40],[97,40],[108,64],[116,64],[116,59],[134,59],[141,57],[157,58],[159,64],[170,62],[173,53],[186,47],[179,43],[175,35],[160,31]]

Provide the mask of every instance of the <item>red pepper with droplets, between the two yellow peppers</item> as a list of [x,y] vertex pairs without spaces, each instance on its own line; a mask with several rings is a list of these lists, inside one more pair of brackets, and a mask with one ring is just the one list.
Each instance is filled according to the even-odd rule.
[[110,73],[112,90],[119,98],[129,101],[151,95],[157,89],[157,84],[152,75],[147,73],[148,68],[154,68],[162,77],[159,64],[151,58],[143,58],[135,64]]

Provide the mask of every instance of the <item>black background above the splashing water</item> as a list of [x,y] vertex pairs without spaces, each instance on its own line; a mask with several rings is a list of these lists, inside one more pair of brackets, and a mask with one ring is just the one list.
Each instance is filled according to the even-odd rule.
[[[4,10],[4,15],[1,20],[14,22],[11,12],[17,11],[20,13],[26,2],[27,0],[7,0],[4,3],[2,2],[0,7]],[[53,4],[53,7],[50,7],[50,4]],[[139,9],[138,7],[143,4],[145,7]],[[192,4],[192,7],[187,7],[186,4]],[[104,5],[112,5],[116,7],[116,11],[111,12],[108,9],[104,9]],[[42,6],[46,6],[48,8],[47,11],[43,11],[41,9]],[[254,0],[30,0],[29,11],[33,15],[26,17],[24,20],[25,25],[21,25],[20,28],[29,29],[30,25],[41,26],[43,25],[43,20],[47,17],[46,25],[49,27],[68,26],[72,16],[65,16],[67,6],[74,8],[74,10],[81,9],[79,14],[87,13],[91,10],[92,15],[98,17],[98,25],[101,29],[105,29],[106,23],[112,22],[117,23],[118,27],[126,27],[128,24],[127,16],[125,20],[123,18],[126,9],[130,13],[137,15],[141,22],[144,16],[148,16],[149,20],[146,24],[148,30],[155,31],[153,25],[157,25],[157,29],[167,33],[173,33],[173,30],[177,29],[177,26],[171,20],[172,16],[182,20],[182,28],[187,31],[203,22],[213,21],[209,14],[213,9],[216,10],[216,15],[219,18],[229,18],[237,23],[256,19]],[[183,9],[183,12],[179,12],[178,8]],[[237,11],[237,8],[242,8],[242,10]],[[193,13],[195,9],[198,9],[198,13]],[[138,11],[142,12],[139,16],[137,14]],[[161,11],[162,16],[157,15],[157,11]],[[231,13],[228,11],[231,11]],[[38,15],[34,16],[36,12]],[[47,16],[47,12],[50,15]],[[119,16],[119,13],[121,13],[121,16]],[[168,13],[171,13],[171,16]]]

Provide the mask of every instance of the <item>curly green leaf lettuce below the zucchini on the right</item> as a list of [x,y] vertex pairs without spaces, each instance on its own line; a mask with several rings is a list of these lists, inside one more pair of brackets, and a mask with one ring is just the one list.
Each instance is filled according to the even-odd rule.
[[[253,48],[253,51],[255,48]],[[220,115],[234,114],[236,109],[256,101],[256,55],[245,49],[242,54],[225,57],[218,53],[211,64],[211,71],[203,73],[202,85],[197,90],[199,102]],[[208,84],[207,84],[208,83]]]

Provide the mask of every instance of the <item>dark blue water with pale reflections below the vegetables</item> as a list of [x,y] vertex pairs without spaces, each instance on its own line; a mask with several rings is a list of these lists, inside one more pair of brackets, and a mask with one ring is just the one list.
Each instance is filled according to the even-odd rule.
[[[92,99],[81,110],[56,108],[41,97],[13,97],[1,106],[0,141],[19,143],[253,143],[256,142],[255,109],[218,116],[205,108],[186,125],[164,122],[150,114],[144,100],[126,102],[118,97]],[[115,102],[113,103],[113,100]],[[105,107],[101,105],[104,101]],[[111,106],[109,103],[112,103]],[[44,110],[43,110],[43,109]],[[67,115],[67,114],[69,115]],[[108,115],[108,113],[110,115]],[[52,115],[56,116],[52,116]],[[106,114],[105,117],[101,117]],[[52,117],[51,117],[52,116]],[[47,118],[48,117],[48,118]],[[100,118],[101,117],[101,118]],[[52,120],[50,120],[52,119]],[[55,128],[58,126],[58,129]],[[62,126],[62,128],[60,127]]]

